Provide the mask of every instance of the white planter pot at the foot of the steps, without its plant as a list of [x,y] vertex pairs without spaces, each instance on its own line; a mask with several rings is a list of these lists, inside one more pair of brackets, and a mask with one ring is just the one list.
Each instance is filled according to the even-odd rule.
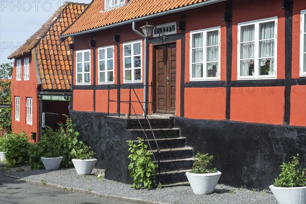
[[221,172],[216,173],[190,173],[186,172],[190,186],[196,195],[206,195],[214,192],[220,179]]

